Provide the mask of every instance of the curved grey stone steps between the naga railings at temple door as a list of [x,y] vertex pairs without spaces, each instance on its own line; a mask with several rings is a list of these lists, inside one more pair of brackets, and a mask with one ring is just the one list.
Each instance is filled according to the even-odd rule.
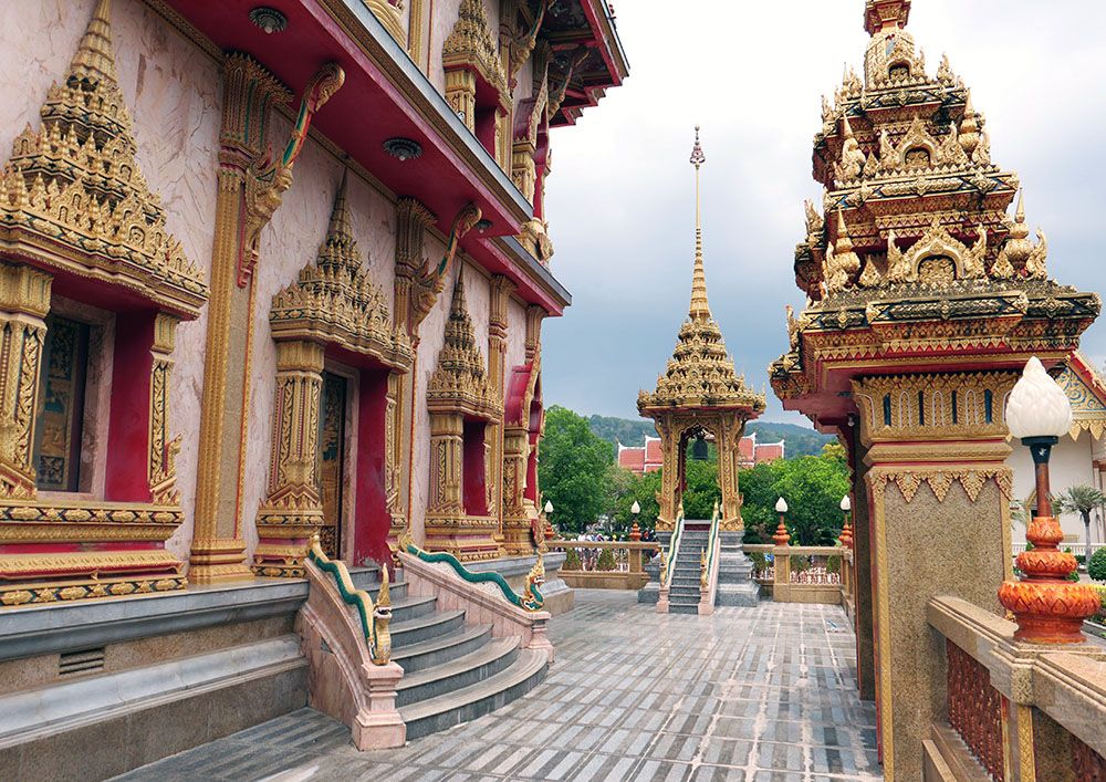
[[[545,651],[493,637],[491,625],[466,623],[463,611],[440,611],[436,597],[408,595],[401,573],[389,586],[392,659],[404,669],[396,706],[408,740],[487,715],[545,678]],[[353,567],[349,575],[376,599],[379,567]]]

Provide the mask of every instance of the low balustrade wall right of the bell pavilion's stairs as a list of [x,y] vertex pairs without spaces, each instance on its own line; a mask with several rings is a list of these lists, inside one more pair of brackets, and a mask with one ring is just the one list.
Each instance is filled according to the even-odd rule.
[[753,560],[753,578],[774,602],[841,605],[852,616],[852,550],[754,543],[743,549]]

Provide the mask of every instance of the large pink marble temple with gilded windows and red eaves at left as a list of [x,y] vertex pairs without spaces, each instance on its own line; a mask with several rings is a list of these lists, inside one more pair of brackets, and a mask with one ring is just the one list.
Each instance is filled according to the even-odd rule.
[[[544,188],[551,131],[628,75],[611,6],[6,14],[0,778],[109,776],[309,702],[382,745],[540,681],[572,598],[540,548],[542,323],[570,304]],[[419,581],[430,553],[498,573],[524,638]],[[393,646],[409,676],[483,649],[484,706],[434,706]]]

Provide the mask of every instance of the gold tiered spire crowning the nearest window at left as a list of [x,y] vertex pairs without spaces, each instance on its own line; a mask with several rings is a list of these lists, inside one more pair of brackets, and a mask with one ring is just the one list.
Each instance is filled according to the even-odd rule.
[[46,94],[41,127],[28,125],[12,144],[0,176],[0,249],[195,317],[208,286],[135,159],[108,11],[109,0],[98,0],[64,79]]

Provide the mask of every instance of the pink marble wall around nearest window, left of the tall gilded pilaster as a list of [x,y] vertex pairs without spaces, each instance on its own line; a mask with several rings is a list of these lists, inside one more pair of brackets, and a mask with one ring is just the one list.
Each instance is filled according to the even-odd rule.
[[[28,124],[38,127],[46,91],[69,66],[93,6],[94,0],[0,3],[0,29],[20,30],[6,37],[0,49],[3,159],[17,134]],[[112,29],[118,80],[135,123],[138,165],[161,197],[169,231],[188,258],[208,271],[221,113],[218,65],[137,0],[112,3]],[[206,312],[182,323],[174,354],[170,424],[174,432],[184,435],[177,468],[185,523],[169,548],[181,556],[191,539],[206,329]]]

